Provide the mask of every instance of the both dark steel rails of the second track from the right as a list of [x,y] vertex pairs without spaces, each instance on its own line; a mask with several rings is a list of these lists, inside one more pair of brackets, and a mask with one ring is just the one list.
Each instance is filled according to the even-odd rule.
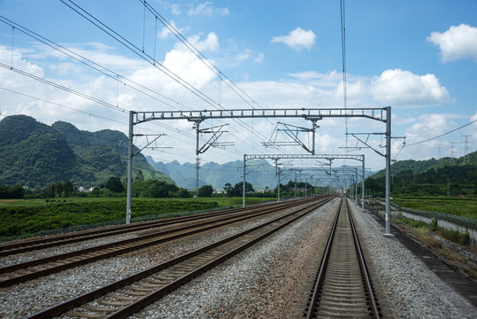
[[189,253],[184,253],[179,257],[173,258],[172,260],[164,261],[164,262],[162,262],[162,263],[160,263],[156,266],[153,266],[153,267],[147,268],[145,270],[142,270],[141,272],[138,272],[134,275],[127,276],[124,279],[120,279],[119,281],[116,281],[112,284],[107,284],[104,287],[98,288],[98,289],[96,289],[92,292],[84,293],[84,294],[82,294],[78,297],[75,297],[75,298],[71,299],[71,300],[66,300],[65,302],[60,303],[56,306],[49,307],[49,308],[47,308],[47,309],[45,309],[45,310],[43,310],[39,313],[28,316],[27,319],[50,318],[50,317],[53,317],[53,316],[61,315],[61,314],[65,313],[66,311],[72,310],[74,307],[79,307],[81,305],[86,304],[88,301],[95,300],[95,299],[97,299],[101,296],[104,296],[108,292],[113,292],[115,290],[118,290],[119,288],[122,288],[122,287],[126,286],[127,284],[133,284],[133,283],[137,282],[138,280],[141,280],[142,278],[145,278],[147,276],[151,276],[151,275],[157,273],[160,270],[170,268],[173,265],[176,265],[176,264],[178,264],[182,261],[186,261],[186,260],[188,260],[192,257],[195,257],[196,255],[198,255],[200,253],[210,251],[212,248],[218,247],[219,245],[224,245],[224,244],[226,244],[226,243],[228,243],[228,242],[230,242],[230,241],[232,241],[236,238],[239,238],[239,237],[242,237],[244,235],[250,234],[251,232],[259,230],[260,228],[263,228],[265,226],[272,225],[274,222],[278,222],[280,220],[283,220],[283,219],[285,219],[289,216],[292,216],[293,214],[303,212],[303,214],[300,214],[300,215],[292,218],[288,222],[284,222],[283,224],[274,227],[273,230],[267,231],[265,234],[252,239],[248,243],[246,243],[244,245],[241,245],[238,248],[235,248],[235,250],[233,250],[231,252],[228,252],[228,253],[220,256],[219,258],[216,258],[213,261],[210,261],[207,264],[205,264],[205,265],[203,265],[199,268],[196,268],[193,271],[188,272],[188,274],[185,275],[185,276],[182,276],[182,278],[174,280],[172,283],[165,285],[162,289],[160,289],[156,292],[151,292],[150,294],[148,294],[147,296],[145,296],[141,300],[136,300],[135,302],[132,302],[129,306],[121,308],[118,312],[109,316],[111,318],[125,318],[125,317],[127,317],[127,315],[131,315],[131,314],[137,312],[142,307],[145,307],[145,306],[149,305],[150,303],[152,303],[153,301],[160,299],[161,297],[163,297],[168,292],[172,292],[173,290],[177,289],[182,284],[187,283],[188,281],[190,281],[194,277],[203,274],[205,271],[209,270],[210,268],[213,268],[214,266],[216,266],[220,262],[227,260],[228,258],[232,257],[236,253],[240,253],[242,250],[250,247],[250,245],[253,245],[253,244],[257,243],[259,240],[263,239],[264,237],[269,236],[273,232],[282,229],[283,227],[285,227],[286,225],[288,225],[291,222],[295,222],[298,218],[303,217],[305,214],[311,213],[313,210],[315,210],[319,206],[325,205],[331,199],[332,198],[324,198],[324,199],[320,200],[318,203],[315,202],[312,205],[307,205],[306,207],[302,207],[302,208],[300,208],[300,209],[298,209],[298,210],[296,210],[292,213],[286,214],[284,216],[273,219],[272,221],[265,222],[265,223],[260,224],[256,227],[253,227],[250,230],[244,230],[241,233],[238,233],[238,234],[235,234],[233,236],[230,236],[230,237],[221,239],[219,241],[216,241],[216,242],[212,243],[211,245],[205,245],[201,248],[196,249],[195,251],[192,251],[192,252],[189,252]]

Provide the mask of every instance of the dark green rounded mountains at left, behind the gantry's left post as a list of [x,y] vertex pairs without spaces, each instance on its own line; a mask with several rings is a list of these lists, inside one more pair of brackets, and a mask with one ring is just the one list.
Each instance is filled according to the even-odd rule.
[[[139,170],[146,178],[173,183],[142,154],[133,159],[133,175]],[[70,180],[91,187],[126,175],[127,136],[119,131],[81,131],[63,121],[48,126],[26,115],[0,121],[0,184],[44,187]]]

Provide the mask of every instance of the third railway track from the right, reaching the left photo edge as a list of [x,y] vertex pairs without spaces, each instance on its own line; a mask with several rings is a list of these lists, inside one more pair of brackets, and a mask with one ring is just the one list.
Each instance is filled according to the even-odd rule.
[[69,253],[60,253],[54,256],[26,261],[0,268],[0,288],[13,284],[21,284],[41,276],[47,276],[69,268],[79,267],[94,261],[104,260],[122,253],[137,251],[151,245],[158,245],[187,237],[208,230],[226,227],[235,222],[244,222],[254,218],[271,214],[282,209],[305,203],[306,201],[284,202],[273,206],[258,206],[248,210],[239,210],[238,213],[215,215],[216,219],[200,221],[171,230],[159,230],[141,237],[128,238],[114,243],[96,245]]

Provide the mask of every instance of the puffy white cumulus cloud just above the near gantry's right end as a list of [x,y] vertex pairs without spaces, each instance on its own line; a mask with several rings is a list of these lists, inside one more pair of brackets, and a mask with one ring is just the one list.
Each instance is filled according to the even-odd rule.
[[370,87],[373,99],[386,105],[421,107],[450,101],[448,90],[435,74],[418,75],[401,69],[386,70]]

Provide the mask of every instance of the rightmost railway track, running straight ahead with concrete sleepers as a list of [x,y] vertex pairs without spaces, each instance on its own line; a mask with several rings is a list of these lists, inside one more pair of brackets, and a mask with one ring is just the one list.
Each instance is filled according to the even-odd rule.
[[315,280],[306,318],[380,318],[346,199],[342,199]]

